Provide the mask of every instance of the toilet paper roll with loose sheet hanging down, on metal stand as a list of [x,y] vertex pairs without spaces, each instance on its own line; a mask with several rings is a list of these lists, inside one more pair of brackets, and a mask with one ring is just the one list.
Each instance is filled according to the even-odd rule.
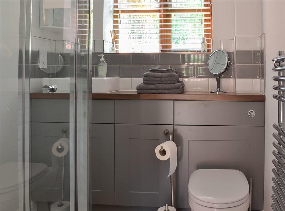
[[[162,148],[163,150],[161,150]],[[156,157],[159,160],[167,160],[170,158],[170,165],[169,165],[169,177],[173,174],[177,167],[177,146],[173,141],[166,141],[162,144],[159,144],[155,148]]]

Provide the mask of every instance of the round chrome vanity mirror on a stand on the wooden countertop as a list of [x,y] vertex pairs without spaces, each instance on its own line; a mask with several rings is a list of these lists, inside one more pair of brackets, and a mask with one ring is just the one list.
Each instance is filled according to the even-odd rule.
[[227,72],[229,67],[229,55],[222,50],[216,50],[211,53],[208,61],[210,73],[217,77],[217,89],[211,93],[226,93],[220,89],[221,77]]

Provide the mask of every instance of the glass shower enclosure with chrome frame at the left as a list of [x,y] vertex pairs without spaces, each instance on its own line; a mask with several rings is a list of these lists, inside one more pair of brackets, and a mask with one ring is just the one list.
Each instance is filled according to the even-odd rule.
[[0,211],[91,207],[92,5],[0,1]]

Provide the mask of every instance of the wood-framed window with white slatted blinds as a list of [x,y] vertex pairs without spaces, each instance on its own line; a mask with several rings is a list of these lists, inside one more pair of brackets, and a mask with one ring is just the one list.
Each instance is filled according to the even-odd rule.
[[211,50],[211,0],[114,0],[113,29],[120,53]]

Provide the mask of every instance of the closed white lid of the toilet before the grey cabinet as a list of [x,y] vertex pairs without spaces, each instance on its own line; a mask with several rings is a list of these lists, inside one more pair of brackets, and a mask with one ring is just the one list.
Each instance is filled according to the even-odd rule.
[[249,184],[239,170],[199,169],[191,174],[188,191],[202,202],[231,204],[248,196]]

